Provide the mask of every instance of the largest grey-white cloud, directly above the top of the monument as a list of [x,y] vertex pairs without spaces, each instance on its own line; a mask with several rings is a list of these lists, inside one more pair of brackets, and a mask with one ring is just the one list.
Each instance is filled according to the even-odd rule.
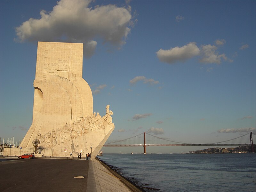
[[41,11],[40,19],[30,18],[16,27],[17,42],[57,41],[85,44],[84,55],[94,53],[102,38],[115,46],[125,44],[133,23],[131,7],[98,5],[90,7],[91,0],[60,0],[50,12]]

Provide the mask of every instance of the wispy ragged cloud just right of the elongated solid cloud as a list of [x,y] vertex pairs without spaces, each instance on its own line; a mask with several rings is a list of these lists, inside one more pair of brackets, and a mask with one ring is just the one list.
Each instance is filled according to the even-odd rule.
[[218,48],[215,45],[201,45],[202,58],[200,59],[200,62],[220,64],[221,59],[229,60],[232,62],[232,60],[228,59],[224,53],[219,54],[219,52],[216,51],[217,49]]

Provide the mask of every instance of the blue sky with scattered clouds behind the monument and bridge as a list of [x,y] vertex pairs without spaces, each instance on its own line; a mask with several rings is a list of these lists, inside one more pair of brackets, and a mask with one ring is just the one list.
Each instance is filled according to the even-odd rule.
[[84,43],[83,78],[94,111],[103,116],[109,104],[114,112],[108,141],[148,132],[204,143],[256,132],[255,7],[255,1],[1,1],[1,139],[21,140],[32,123],[37,41]]

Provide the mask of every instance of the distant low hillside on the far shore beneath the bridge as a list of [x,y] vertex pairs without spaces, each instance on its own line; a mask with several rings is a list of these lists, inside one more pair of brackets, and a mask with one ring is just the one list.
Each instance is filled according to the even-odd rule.
[[[256,146],[254,146],[254,152]],[[251,153],[251,146],[240,146],[236,148],[208,148],[197,151],[189,151],[189,153]]]

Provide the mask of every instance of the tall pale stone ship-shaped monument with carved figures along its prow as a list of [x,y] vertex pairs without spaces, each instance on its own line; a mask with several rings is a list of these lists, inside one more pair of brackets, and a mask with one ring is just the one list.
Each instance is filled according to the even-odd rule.
[[38,42],[33,121],[12,155],[33,153],[37,139],[44,156],[96,157],[115,128],[113,112],[107,105],[105,116],[93,113],[92,90],[82,70],[82,43]]

